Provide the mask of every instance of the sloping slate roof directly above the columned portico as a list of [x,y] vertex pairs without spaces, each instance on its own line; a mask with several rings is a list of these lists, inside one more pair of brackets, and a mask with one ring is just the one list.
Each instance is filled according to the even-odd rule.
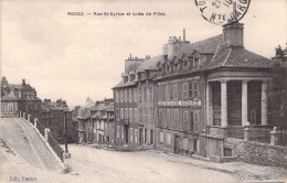
[[243,47],[223,49],[217,55],[214,55],[205,69],[219,67],[238,67],[238,68],[269,68],[274,62],[267,57],[247,51]]

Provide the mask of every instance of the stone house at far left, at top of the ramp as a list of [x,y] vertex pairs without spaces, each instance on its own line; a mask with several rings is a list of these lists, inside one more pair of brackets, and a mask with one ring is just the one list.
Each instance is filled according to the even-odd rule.
[[17,110],[41,117],[41,99],[35,88],[22,79],[22,84],[9,84],[6,77],[1,80],[1,115],[13,115]]

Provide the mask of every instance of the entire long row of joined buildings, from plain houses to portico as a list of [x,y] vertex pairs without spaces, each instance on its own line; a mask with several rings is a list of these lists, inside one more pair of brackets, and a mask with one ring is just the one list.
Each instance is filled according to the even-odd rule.
[[272,128],[267,83],[275,62],[244,49],[241,23],[194,43],[184,33],[183,40],[170,36],[162,55],[126,61],[123,80],[113,88],[117,142],[228,157],[226,138],[242,139],[246,126]]

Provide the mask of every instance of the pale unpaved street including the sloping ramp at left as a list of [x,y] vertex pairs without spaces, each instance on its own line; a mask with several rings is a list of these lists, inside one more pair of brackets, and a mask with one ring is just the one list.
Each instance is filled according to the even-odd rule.
[[213,163],[156,150],[121,152],[70,144],[73,171],[63,174],[34,129],[1,119],[1,182],[240,182],[284,180],[286,170],[243,162]]

